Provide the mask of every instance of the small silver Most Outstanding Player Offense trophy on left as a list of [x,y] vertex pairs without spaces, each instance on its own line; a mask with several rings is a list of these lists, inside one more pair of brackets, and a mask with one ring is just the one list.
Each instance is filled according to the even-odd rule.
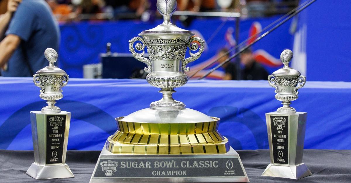
[[70,178],[74,176],[65,161],[71,113],[55,106],[56,100],[63,97],[61,88],[67,85],[68,75],[55,67],[58,54],[54,49],[46,49],[45,58],[49,66],[39,70],[33,82],[48,105],[31,112],[35,162],[26,174],[35,179]]

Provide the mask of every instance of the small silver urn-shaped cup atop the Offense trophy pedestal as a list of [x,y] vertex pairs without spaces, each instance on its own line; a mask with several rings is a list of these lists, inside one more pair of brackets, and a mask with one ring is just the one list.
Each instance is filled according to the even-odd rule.
[[63,97],[62,87],[68,83],[67,73],[54,65],[57,62],[58,54],[52,49],[45,50],[45,58],[49,61],[49,66],[40,69],[37,74],[33,76],[33,82],[36,86],[40,87],[40,98],[47,100],[46,107],[41,109],[43,113],[59,113],[61,109],[57,106],[56,100]]

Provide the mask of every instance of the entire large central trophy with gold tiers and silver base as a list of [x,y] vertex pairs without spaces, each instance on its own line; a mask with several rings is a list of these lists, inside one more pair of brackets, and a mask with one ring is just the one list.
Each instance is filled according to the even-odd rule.
[[[187,83],[187,64],[201,56],[205,45],[171,23],[176,7],[176,0],[158,0],[164,22],[129,41],[132,55],[150,72],[147,82],[160,88],[163,97],[149,108],[116,118],[118,131],[108,137],[90,182],[249,181],[239,155],[218,132],[220,119],[172,97]],[[190,57],[185,58],[188,47]],[[145,48],[149,58],[143,57]]]

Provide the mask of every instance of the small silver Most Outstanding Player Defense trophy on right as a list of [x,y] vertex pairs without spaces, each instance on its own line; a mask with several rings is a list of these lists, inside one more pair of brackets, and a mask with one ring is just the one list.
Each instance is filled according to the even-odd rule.
[[263,176],[300,179],[312,175],[302,163],[307,113],[290,107],[291,101],[298,98],[297,90],[306,83],[301,72],[289,67],[292,56],[291,50],[284,50],[280,55],[284,67],[268,76],[269,84],[276,88],[275,98],[282,101],[283,107],[266,113],[271,163]]

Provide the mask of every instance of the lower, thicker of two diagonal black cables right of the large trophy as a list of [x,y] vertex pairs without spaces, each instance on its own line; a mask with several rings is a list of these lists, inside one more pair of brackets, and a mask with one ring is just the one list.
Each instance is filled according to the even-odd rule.
[[[205,77],[207,77],[208,75],[210,75],[212,72],[214,72],[215,70],[219,69],[221,66],[223,66],[224,64],[228,63],[231,61],[231,59],[235,58],[236,56],[238,56],[239,54],[241,54],[241,52],[243,52],[244,50],[246,50],[247,48],[251,47],[252,44],[256,43],[257,41],[261,40],[263,37],[265,37],[266,35],[270,34],[272,31],[276,30],[278,27],[280,27],[283,23],[285,23],[286,21],[290,20],[293,16],[295,16],[296,14],[300,13],[302,10],[304,10],[305,8],[307,8],[308,6],[310,6],[314,1],[316,0],[311,0],[309,1],[306,5],[304,5],[301,9],[298,9],[296,12],[294,12],[293,14],[291,14],[290,16],[288,16],[286,19],[284,19],[282,22],[279,22],[276,26],[274,26],[272,29],[266,31],[264,34],[262,34],[261,36],[259,36],[258,38],[256,38],[256,40],[254,40],[252,43],[250,43],[249,45],[246,45],[243,49],[241,49],[239,52],[235,53],[234,55],[232,55],[231,57],[229,57],[228,59],[226,59],[224,62],[222,62],[221,64],[217,65],[215,68],[211,69],[210,71],[208,71],[204,76],[200,77],[200,79],[203,79]],[[299,6],[300,7],[300,6]]]

